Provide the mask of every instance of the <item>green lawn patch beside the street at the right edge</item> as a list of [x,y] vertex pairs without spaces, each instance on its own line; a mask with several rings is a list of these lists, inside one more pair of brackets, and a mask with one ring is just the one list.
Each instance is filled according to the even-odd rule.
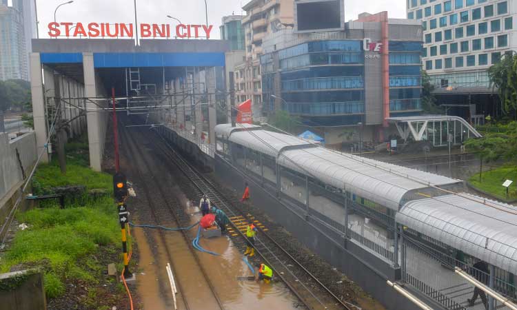
[[[513,180],[509,187],[509,197],[506,196],[506,188],[503,187],[505,180]],[[478,189],[487,192],[496,198],[503,200],[517,198],[517,167],[507,166],[483,172],[481,182],[479,182],[479,174],[474,174],[469,178],[469,183]]]

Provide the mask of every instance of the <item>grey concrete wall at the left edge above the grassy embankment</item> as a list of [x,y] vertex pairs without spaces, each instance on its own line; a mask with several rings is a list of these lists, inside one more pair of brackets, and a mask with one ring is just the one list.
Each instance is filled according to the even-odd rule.
[[28,132],[11,141],[8,140],[8,134],[0,133],[0,200],[23,181],[17,150],[27,176],[28,170],[32,168],[37,158],[34,132]]

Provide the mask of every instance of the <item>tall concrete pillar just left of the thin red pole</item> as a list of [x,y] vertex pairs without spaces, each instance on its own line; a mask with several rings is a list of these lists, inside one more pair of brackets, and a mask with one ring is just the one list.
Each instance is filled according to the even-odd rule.
[[[84,96],[92,98],[97,96],[95,85],[95,68],[93,65],[93,53],[83,52],[84,72]],[[88,147],[90,148],[90,167],[95,171],[101,171],[102,147],[101,147],[101,112],[96,111],[99,107],[91,101],[86,102],[86,122],[88,126]]]

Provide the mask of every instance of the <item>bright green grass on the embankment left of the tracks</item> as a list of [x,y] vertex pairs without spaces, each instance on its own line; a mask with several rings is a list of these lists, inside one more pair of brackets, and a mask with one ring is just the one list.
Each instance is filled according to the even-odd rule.
[[[50,194],[52,188],[65,185],[85,185],[87,191],[104,189],[111,194],[112,176],[94,172],[83,163],[88,145],[85,149],[85,143],[77,141],[67,148],[67,173],[61,174],[55,160],[40,165],[33,179],[34,194]],[[105,266],[94,257],[103,254],[99,253],[100,247],[112,251],[119,244],[116,207],[111,196],[79,200],[81,203],[72,201],[65,209],[48,200],[41,204],[45,208],[17,214],[18,222],[29,227],[17,231],[0,259],[0,272],[14,266],[41,269],[48,298],[63,295],[70,280],[97,283],[97,275]]]

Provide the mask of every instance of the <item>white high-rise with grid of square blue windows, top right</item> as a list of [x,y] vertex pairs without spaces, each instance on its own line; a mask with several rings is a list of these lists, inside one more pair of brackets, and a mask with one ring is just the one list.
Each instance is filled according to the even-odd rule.
[[478,122],[498,116],[488,68],[517,50],[517,2],[407,0],[407,18],[423,25],[423,69],[449,114]]

